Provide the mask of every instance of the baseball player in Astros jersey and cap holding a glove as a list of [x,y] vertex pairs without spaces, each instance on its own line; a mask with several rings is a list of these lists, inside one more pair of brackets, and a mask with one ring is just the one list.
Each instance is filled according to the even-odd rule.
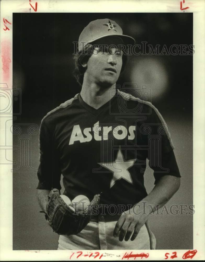
[[[90,22],[75,55],[82,90],[42,119],[38,200],[60,232],[59,250],[155,249],[148,216],[179,189],[180,173],[161,114],[150,102],[115,86],[126,64],[121,47],[134,43],[115,21]],[[155,177],[149,195],[143,179],[146,159]],[[60,206],[61,213],[67,212],[58,200],[61,174],[63,194],[71,200],[85,195],[91,201],[100,194],[98,208],[80,230],[72,231],[78,219],[71,223],[56,211]],[[67,231],[58,231],[65,224]]]

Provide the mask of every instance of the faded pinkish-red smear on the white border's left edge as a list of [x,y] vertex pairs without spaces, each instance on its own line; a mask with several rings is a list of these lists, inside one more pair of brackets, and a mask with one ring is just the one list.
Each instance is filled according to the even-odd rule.
[[1,43],[1,61],[3,69],[3,81],[7,82],[10,77],[10,63],[11,63],[11,45],[9,41],[2,41]]

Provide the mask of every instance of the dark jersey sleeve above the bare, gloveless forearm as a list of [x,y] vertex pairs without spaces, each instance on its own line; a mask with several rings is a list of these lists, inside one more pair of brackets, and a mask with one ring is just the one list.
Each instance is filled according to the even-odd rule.
[[174,155],[174,145],[169,132],[169,126],[160,112],[152,106],[149,118],[149,166],[154,171],[155,184],[166,175],[181,177]]

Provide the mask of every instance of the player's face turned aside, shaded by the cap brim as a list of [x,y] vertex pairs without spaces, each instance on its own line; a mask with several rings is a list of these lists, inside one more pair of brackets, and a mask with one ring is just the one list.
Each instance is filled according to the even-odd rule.
[[118,37],[107,37],[97,44],[98,47],[94,47],[93,54],[88,59],[86,77],[90,83],[108,87],[116,83],[122,68],[123,54],[117,47],[122,44],[122,40]]

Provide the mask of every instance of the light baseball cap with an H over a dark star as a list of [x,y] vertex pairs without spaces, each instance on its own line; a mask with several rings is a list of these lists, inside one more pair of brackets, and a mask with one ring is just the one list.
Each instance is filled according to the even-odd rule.
[[92,43],[107,36],[118,36],[125,45],[134,45],[133,37],[123,35],[122,28],[113,20],[108,18],[91,21],[81,32],[78,40],[78,52],[88,43]]

